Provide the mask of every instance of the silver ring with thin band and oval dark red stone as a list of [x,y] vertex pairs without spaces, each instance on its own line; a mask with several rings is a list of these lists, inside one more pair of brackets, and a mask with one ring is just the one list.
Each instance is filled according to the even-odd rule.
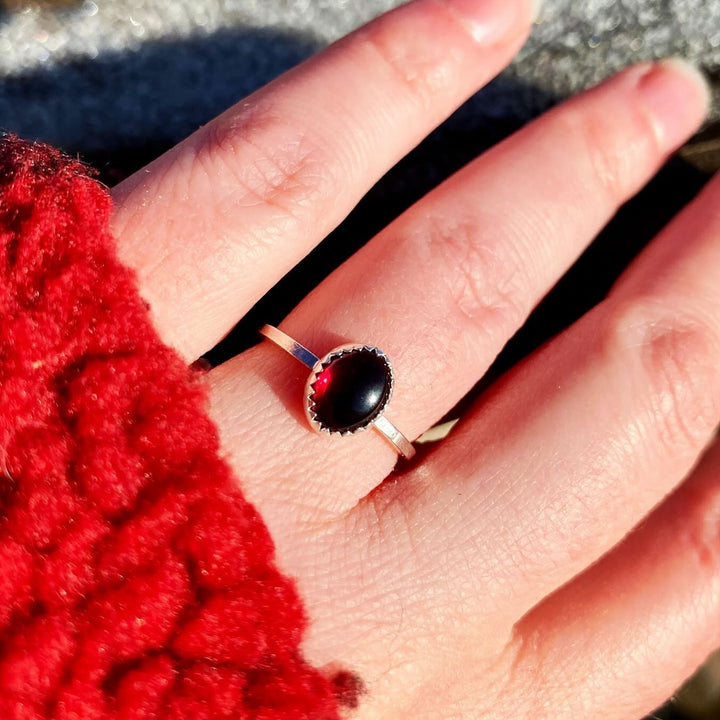
[[372,427],[406,460],[415,454],[384,415],[394,384],[385,353],[370,345],[341,345],[319,358],[272,325],[263,325],[260,334],[310,368],[305,415],[315,432],[348,435]]

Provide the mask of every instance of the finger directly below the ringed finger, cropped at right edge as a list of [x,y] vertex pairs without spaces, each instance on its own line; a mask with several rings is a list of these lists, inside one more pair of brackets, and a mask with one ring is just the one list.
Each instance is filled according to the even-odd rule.
[[[720,419],[719,202],[720,178],[603,303],[481,399],[419,482],[382,488],[367,511],[385,532],[442,529],[457,545],[435,561],[457,554],[489,581],[483,602],[517,617],[647,514]],[[449,587],[467,583],[452,574]]]

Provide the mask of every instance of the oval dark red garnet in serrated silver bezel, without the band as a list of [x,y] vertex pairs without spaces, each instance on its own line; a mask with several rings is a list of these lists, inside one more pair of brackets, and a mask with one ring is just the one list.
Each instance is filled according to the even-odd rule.
[[329,353],[308,381],[308,415],[320,430],[350,433],[370,425],[392,393],[392,370],[377,348],[347,347]]

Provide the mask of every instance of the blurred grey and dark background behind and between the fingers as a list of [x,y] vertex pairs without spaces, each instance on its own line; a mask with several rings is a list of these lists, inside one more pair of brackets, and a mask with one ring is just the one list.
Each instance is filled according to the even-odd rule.
[[[0,0],[0,128],[79,155],[112,185],[396,4]],[[217,364],[256,342],[263,322],[279,320],[390,219],[547,107],[631,62],[668,55],[690,58],[720,86],[720,0],[545,0],[513,65],[388,173],[206,359]],[[719,100],[716,92],[707,127],[620,211],[508,344],[475,394],[598,302],[720,167]],[[602,708],[597,710],[602,717]],[[652,717],[720,720],[720,654]]]

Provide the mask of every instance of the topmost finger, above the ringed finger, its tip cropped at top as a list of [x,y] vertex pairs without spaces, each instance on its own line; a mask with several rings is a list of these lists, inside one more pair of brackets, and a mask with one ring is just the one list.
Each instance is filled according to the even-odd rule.
[[114,191],[164,339],[211,348],[370,186],[512,58],[531,0],[416,0],[200,128]]

